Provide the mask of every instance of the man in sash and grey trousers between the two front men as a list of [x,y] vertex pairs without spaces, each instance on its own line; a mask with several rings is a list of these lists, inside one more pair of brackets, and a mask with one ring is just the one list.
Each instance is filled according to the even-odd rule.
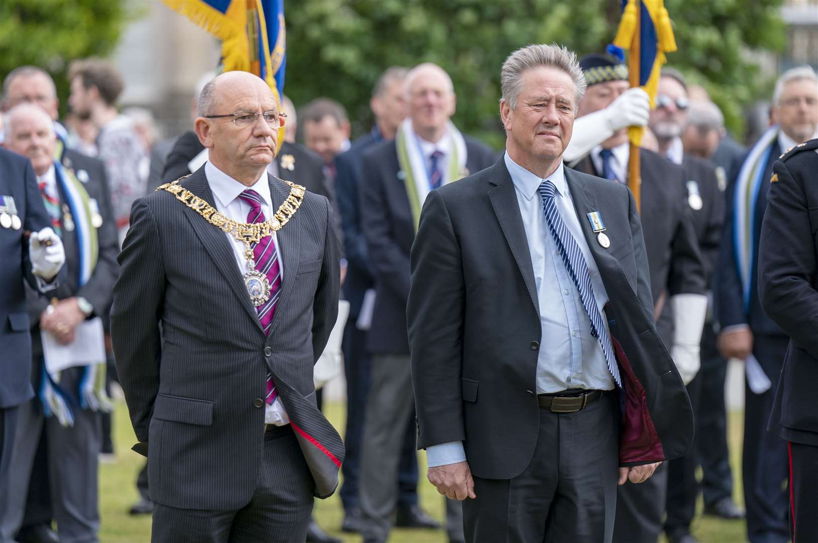
[[[455,111],[455,93],[452,79],[438,65],[421,64],[410,70],[404,95],[408,116],[395,140],[372,146],[362,157],[362,230],[376,293],[366,341],[372,355],[371,388],[359,490],[365,541],[385,541],[389,536],[398,499],[394,473],[404,424],[414,412],[406,309],[409,252],[420,205],[429,191],[487,168],[494,159],[492,150],[462,136],[449,120]],[[447,507],[449,536],[459,540],[460,507],[451,502]]]

